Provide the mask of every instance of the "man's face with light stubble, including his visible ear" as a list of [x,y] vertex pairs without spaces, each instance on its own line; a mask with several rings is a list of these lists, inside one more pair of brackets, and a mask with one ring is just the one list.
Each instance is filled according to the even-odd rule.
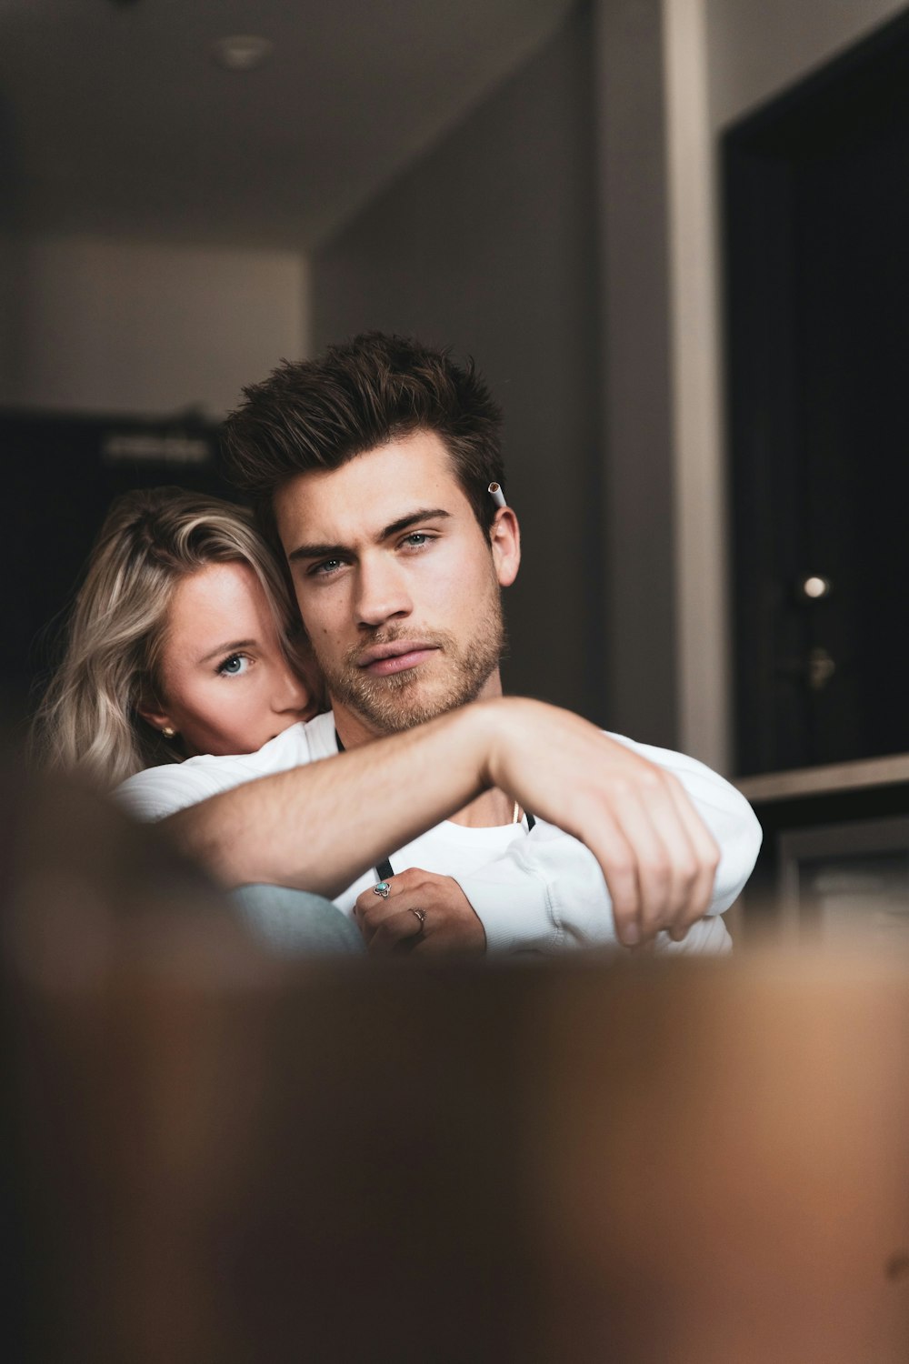
[[435,432],[298,475],[275,517],[345,742],[500,692],[517,520],[484,533]]

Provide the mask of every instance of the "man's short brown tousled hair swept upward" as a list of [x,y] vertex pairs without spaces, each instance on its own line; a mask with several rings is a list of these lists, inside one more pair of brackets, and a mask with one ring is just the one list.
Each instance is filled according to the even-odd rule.
[[224,427],[228,477],[277,542],[274,496],[298,473],[337,469],[414,431],[444,443],[477,521],[489,531],[489,483],[503,481],[502,411],[473,360],[409,337],[367,331],[316,360],[282,360]]

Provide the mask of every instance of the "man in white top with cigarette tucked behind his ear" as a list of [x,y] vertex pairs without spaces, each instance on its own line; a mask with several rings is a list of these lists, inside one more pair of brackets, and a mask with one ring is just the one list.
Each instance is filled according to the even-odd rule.
[[128,803],[229,885],[335,898],[372,951],[671,945],[692,925],[685,947],[726,943],[715,914],[759,844],[744,799],[502,697],[519,531],[489,491],[502,421],[473,367],[373,333],[245,397],[229,472],[286,559],[333,713],[247,760],[139,773]]

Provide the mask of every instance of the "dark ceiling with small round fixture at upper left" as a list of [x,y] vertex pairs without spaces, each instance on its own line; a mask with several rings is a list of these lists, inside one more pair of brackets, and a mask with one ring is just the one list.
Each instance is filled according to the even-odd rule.
[[[312,248],[572,0],[0,0],[7,231]],[[274,44],[228,71],[213,44]]]

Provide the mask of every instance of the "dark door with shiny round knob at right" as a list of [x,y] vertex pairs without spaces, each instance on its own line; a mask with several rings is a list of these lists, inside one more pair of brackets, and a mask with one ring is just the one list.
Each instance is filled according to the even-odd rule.
[[909,752],[909,22],[725,139],[739,769]]

